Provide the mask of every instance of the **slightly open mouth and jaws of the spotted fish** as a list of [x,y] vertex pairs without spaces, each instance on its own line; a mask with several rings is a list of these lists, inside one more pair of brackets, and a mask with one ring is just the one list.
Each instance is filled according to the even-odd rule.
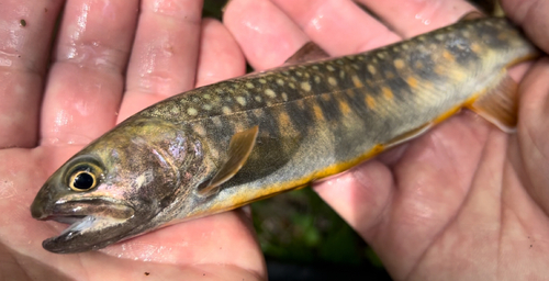
[[37,220],[70,224],[58,236],[42,244],[46,250],[59,254],[99,249],[119,239],[128,232],[124,225],[134,213],[132,206],[105,199],[57,201],[51,209],[32,206],[32,214]]

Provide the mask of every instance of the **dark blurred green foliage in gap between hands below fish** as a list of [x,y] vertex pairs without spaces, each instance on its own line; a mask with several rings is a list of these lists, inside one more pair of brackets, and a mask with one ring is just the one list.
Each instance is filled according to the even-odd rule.
[[[265,255],[293,262],[359,265],[370,258],[366,243],[311,189],[251,204]],[[379,260],[378,260],[379,261]]]

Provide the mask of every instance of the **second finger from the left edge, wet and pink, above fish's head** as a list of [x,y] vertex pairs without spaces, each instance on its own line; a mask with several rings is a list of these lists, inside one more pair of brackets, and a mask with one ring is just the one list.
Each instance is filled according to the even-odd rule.
[[113,126],[137,2],[67,2],[43,104],[43,144],[87,144]]

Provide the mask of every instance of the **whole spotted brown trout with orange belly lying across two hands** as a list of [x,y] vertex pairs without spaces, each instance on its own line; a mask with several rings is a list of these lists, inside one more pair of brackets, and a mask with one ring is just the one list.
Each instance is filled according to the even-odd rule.
[[55,171],[31,213],[70,224],[46,250],[97,250],[344,172],[463,108],[512,132],[507,68],[539,55],[508,20],[470,15],[356,55],[307,44],[132,115]]

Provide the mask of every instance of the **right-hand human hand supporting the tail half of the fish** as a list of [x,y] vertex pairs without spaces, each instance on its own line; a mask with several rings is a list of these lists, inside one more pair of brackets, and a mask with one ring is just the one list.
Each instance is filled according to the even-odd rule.
[[[272,2],[234,0],[224,19],[259,69],[281,64],[310,40],[330,55],[358,53],[451,24],[474,9],[460,0],[358,1],[388,29],[351,1]],[[549,4],[503,4],[549,52]],[[523,80],[517,134],[463,111],[315,190],[395,280],[547,278],[548,72],[541,59]]]

